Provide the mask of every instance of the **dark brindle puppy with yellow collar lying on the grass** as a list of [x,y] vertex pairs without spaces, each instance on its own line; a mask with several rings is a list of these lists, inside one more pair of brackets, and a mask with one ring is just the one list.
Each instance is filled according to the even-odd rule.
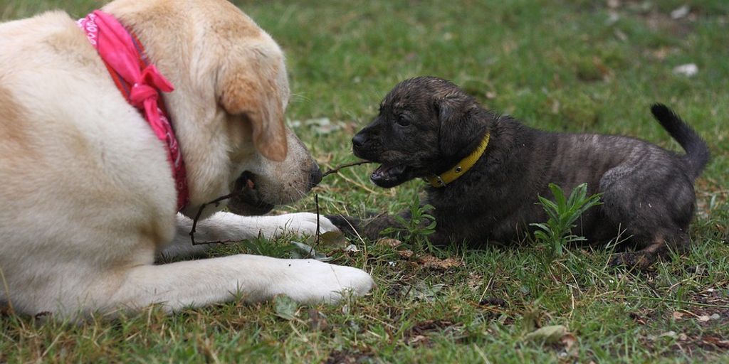
[[[623,136],[534,130],[484,109],[451,82],[418,77],[397,84],[352,143],[356,156],[382,164],[371,176],[378,186],[429,181],[436,244],[521,239],[529,223],[547,220],[535,202],[552,197],[550,182],[565,191],[588,183],[603,204],[582,215],[575,233],[608,242],[622,231],[638,251],[620,253],[612,264],[647,267],[669,248],[688,247],[693,181],[709,160],[706,143],[679,116],[663,105],[651,111],[685,155]],[[397,226],[392,216],[334,220],[370,239]]]

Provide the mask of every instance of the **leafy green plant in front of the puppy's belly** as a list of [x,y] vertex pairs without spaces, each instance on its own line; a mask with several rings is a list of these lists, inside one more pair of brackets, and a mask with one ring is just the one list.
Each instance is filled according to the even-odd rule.
[[575,187],[569,194],[569,198],[566,199],[559,186],[550,183],[549,188],[554,195],[554,201],[539,196],[539,202],[537,202],[538,205],[542,205],[549,219],[545,223],[530,223],[529,225],[537,228],[537,231],[534,232],[534,239],[539,245],[549,248],[550,256],[562,256],[565,245],[585,240],[585,237],[572,234],[574,222],[590,207],[601,205],[602,194],[593,194],[588,197],[587,183]]

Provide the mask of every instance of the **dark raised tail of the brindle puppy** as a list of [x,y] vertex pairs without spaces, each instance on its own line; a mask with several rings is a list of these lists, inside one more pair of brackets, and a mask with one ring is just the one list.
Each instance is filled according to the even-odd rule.
[[686,151],[682,159],[689,167],[691,178],[697,178],[709,162],[709,147],[706,146],[706,142],[668,106],[656,103],[650,107],[650,111],[660,126],[666,129]]

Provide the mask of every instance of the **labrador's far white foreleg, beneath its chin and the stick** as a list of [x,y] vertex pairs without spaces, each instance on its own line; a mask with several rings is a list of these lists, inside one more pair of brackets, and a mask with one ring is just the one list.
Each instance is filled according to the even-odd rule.
[[[201,256],[212,245],[192,245],[190,230],[192,219],[177,214],[177,232],[174,240],[161,252],[167,258]],[[337,232],[337,226],[324,216],[319,216],[319,232]],[[283,234],[313,236],[316,234],[316,214],[287,213],[276,216],[241,216],[233,213],[216,213],[195,226],[195,240],[222,241],[246,240],[262,234],[270,239]]]

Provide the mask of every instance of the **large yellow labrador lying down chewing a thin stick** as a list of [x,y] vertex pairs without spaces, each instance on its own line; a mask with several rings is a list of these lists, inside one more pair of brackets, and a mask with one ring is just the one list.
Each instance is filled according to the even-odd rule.
[[[178,207],[168,146],[75,20],[47,12],[0,24],[0,301],[16,312],[77,317],[367,293],[369,274],[313,260],[155,264],[160,255],[202,252],[188,232],[204,202],[243,186],[232,210],[265,213],[302,197],[321,173],[284,125],[284,55],[239,9],[223,0],[118,0],[103,10],[174,85],[161,107],[187,170],[187,204]],[[316,229],[311,213],[213,210],[198,224],[199,240]],[[336,229],[324,218],[321,226]]]

